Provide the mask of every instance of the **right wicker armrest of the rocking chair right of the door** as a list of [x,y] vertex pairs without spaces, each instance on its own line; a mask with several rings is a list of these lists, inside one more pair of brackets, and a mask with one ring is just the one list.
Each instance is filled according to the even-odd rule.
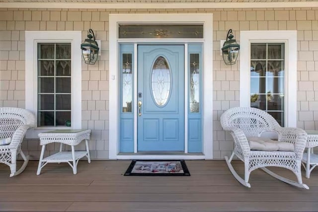
[[300,128],[277,128],[278,141],[294,143],[298,158],[303,158],[307,143],[307,133]]

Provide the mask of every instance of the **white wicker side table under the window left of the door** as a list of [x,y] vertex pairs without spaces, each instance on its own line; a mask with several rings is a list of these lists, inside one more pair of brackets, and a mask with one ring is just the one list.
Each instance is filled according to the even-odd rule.
[[[41,173],[41,169],[48,163],[67,162],[73,168],[74,174],[77,174],[77,165],[80,158],[86,156],[88,163],[90,163],[90,155],[88,148],[90,130],[54,130],[45,133],[40,133],[39,138],[40,144],[42,145],[42,150],[38,170],[36,172],[37,175]],[[74,146],[78,145],[82,140],[85,140],[86,151],[75,151]],[[60,151],[53,155],[43,158],[46,144],[52,142],[61,143]],[[72,151],[62,151],[63,144],[71,145]]]

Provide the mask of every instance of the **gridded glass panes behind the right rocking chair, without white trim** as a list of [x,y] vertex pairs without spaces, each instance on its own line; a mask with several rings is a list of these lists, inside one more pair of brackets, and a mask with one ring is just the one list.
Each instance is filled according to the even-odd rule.
[[250,106],[285,126],[285,44],[251,43]]

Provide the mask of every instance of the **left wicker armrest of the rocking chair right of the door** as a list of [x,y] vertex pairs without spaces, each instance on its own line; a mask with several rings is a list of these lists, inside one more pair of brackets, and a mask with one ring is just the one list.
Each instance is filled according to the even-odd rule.
[[236,144],[236,148],[238,151],[244,155],[244,157],[249,157],[250,155],[250,146],[247,141],[247,138],[244,132],[239,128],[228,128],[227,131],[230,131],[234,142]]

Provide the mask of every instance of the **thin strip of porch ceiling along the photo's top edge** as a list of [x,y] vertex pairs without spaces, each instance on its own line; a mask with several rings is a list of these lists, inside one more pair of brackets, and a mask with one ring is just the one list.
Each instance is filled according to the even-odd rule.
[[63,3],[222,3],[222,2],[317,2],[317,0],[0,0],[0,2],[63,2]]

